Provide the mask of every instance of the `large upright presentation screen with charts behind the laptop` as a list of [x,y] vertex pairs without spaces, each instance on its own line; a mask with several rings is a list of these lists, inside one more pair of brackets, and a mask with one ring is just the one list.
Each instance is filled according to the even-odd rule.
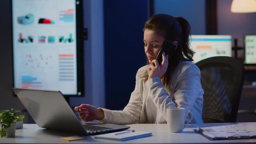
[[82,0],[12,0],[13,87],[83,96]]

